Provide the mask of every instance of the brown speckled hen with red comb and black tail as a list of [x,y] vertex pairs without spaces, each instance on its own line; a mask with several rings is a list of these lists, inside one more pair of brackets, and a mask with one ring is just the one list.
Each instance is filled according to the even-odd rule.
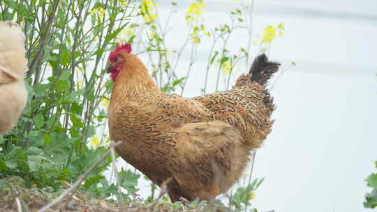
[[265,89],[279,63],[258,56],[235,89],[196,98],[163,93],[147,68],[118,46],[109,56],[114,88],[110,138],[117,153],[140,172],[167,185],[170,199],[212,199],[242,175],[250,151],[271,131],[274,104]]

